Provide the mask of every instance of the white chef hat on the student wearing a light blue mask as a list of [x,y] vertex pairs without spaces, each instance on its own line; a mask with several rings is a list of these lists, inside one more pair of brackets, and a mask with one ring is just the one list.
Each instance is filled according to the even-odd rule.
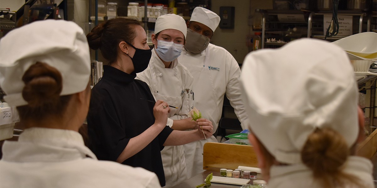
[[165,14],[157,18],[155,25],[155,33],[159,33],[165,29],[175,29],[183,33],[186,38],[187,25],[185,20],[176,14]]

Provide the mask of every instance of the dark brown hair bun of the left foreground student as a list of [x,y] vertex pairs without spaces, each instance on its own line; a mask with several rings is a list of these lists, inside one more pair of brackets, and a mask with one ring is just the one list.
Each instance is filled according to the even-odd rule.
[[56,105],[62,86],[60,72],[48,64],[37,62],[29,67],[22,77],[25,87],[22,97],[31,108],[44,105]]

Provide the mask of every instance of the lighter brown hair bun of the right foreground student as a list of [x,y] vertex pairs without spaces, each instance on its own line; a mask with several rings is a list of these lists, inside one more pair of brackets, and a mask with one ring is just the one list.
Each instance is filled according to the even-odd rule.
[[331,128],[316,129],[301,151],[302,162],[314,177],[336,176],[349,156],[345,138]]

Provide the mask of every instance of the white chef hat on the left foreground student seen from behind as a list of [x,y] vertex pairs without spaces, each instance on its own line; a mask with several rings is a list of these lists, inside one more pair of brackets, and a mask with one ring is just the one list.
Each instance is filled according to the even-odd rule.
[[22,97],[22,76],[37,61],[60,71],[60,96],[84,91],[90,76],[89,45],[83,29],[72,21],[35,21],[0,40],[0,85],[11,106],[28,103]]

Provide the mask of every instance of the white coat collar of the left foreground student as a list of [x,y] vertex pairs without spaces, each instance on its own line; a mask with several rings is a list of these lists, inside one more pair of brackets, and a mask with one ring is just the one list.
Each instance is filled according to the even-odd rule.
[[25,129],[18,141],[5,141],[3,152],[3,160],[13,162],[69,161],[87,156],[97,159],[80,133],[41,127]]

